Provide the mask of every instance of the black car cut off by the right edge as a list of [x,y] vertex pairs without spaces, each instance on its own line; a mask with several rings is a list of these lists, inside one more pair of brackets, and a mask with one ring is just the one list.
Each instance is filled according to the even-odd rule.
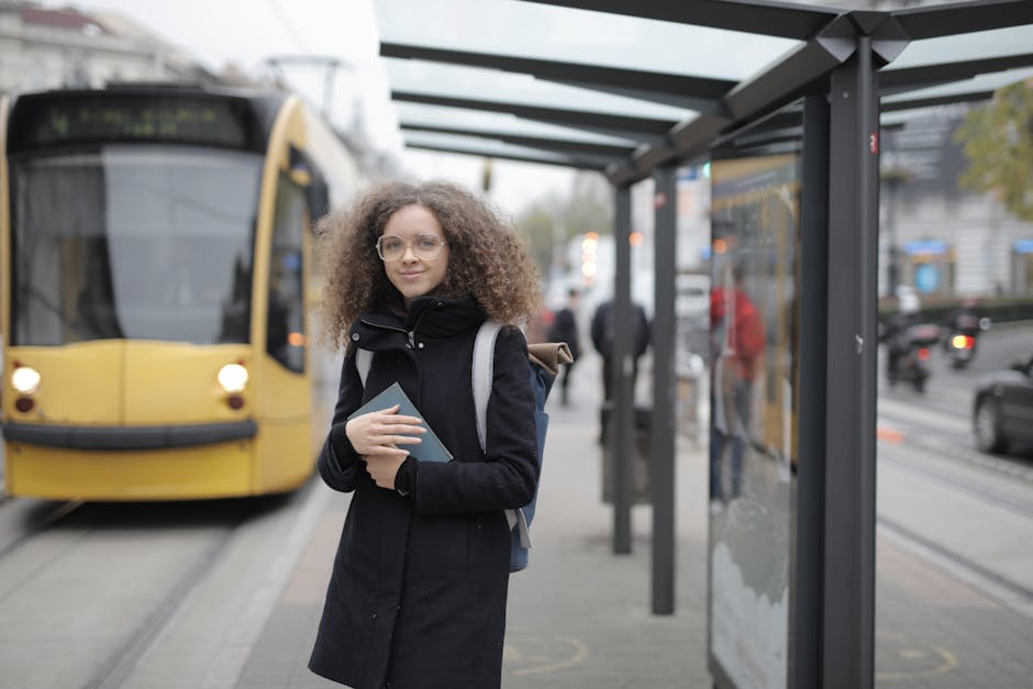
[[1033,445],[1033,356],[982,378],[973,402],[973,431],[982,452]]

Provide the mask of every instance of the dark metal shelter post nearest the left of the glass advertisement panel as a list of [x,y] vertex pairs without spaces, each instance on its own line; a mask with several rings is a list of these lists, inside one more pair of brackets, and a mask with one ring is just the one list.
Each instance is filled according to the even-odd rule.
[[649,486],[653,498],[653,614],[675,611],[675,270],[677,170],[653,173],[655,222],[653,291],[653,413]]

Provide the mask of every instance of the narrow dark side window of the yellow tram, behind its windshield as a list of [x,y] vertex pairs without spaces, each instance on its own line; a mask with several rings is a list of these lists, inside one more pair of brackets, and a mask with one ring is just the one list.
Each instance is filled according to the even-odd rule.
[[286,368],[304,370],[306,329],[302,291],[303,233],[308,226],[306,190],[280,175],[276,193],[273,251],[269,255],[269,307],[266,349]]

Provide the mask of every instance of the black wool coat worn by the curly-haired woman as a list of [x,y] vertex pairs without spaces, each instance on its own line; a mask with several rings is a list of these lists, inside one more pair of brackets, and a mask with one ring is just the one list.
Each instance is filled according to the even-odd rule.
[[[327,437],[320,475],[354,496],[309,662],[323,677],[356,689],[500,684],[510,562],[503,510],[534,496],[537,443],[527,345],[504,327],[481,453],[470,369],[484,320],[471,302],[421,297],[406,315],[378,310],[352,327],[332,424],[397,380],[454,459],[418,462],[402,497],[376,486],[346,436],[336,434],[340,452]],[[374,352],[365,388],[356,346]],[[419,460],[419,445],[406,447]]]

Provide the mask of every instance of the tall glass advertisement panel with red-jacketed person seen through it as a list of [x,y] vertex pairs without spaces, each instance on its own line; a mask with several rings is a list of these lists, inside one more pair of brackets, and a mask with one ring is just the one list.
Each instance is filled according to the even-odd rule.
[[711,167],[710,664],[789,682],[798,390],[799,153]]

